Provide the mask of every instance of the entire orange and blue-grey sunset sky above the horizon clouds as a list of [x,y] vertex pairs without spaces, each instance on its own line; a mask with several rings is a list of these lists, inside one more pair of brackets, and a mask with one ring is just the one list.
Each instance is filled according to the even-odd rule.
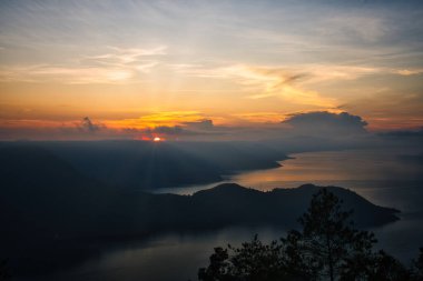
[[416,130],[422,34],[422,1],[2,0],[0,140]]

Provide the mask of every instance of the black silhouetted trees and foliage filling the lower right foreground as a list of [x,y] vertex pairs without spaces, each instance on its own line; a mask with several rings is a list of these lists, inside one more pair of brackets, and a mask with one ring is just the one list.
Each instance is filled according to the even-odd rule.
[[302,231],[289,231],[266,244],[255,235],[240,248],[215,248],[210,264],[198,271],[203,281],[270,280],[423,280],[423,248],[412,270],[384,251],[374,252],[374,234],[360,231],[352,211],[326,189],[313,195],[299,218]]

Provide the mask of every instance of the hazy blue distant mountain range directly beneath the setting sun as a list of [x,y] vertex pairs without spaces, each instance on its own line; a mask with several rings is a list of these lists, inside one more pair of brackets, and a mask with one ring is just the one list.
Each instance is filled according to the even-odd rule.
[[[3,159],[42,161],[43,168],[70,165],[104,184],[144,190],[218,182],[223,175],[276,168],[287,159],[282,149],[253,142],[0,142],[0,168],[8,169]],[[51,169],[50,177],[55,173]]]

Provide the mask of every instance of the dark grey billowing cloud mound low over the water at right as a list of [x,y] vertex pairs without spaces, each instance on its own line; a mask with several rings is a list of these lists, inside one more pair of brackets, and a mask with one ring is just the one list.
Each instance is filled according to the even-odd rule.
[[358,116],[327,111],[293,114],[283,123],[288,124],[294,131],[309,134],[365,133],[367,126],[367,122]]

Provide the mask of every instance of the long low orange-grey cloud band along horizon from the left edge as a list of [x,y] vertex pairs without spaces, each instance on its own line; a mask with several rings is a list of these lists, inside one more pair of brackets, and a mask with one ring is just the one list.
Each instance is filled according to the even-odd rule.
[[[186,114],[183,112],[170,116]],[[150,116],[151,118],[151,116]],[[190,118],[194,118],[191,116]],[[282,118],[282,114],[279,116]],[[281,119],[279,119],[281,120]],[[147,120],[145,120],[147,121]],[[139,122],[139,121],[138,121]],[[107,124],[107,126],[106,126]],[[244,122],[238,126],[214,124],[212,119],[163,122],[120,123],[111,127],[106,120],[94,122],[89,117],[81,121],[43,122],[9,121],[0,126],[0,139],[37,139],[37,140],[101,140],[101,139],[139,139],[153,140],[160,137],[166,140],[206,140],[206,141],[255,141],[255,140],[294,140],[297,137],[318,137],[327,140],[345,139],[344,137],[366,136],[366,122],[358,116],[347,112],[332,113],[326,111],[289,114],[283,122]],[[149,124],[149,126],[147,126]],[[346,138],[355,140],[356,138]],[[304,141],[304,139],[303,139]]]

